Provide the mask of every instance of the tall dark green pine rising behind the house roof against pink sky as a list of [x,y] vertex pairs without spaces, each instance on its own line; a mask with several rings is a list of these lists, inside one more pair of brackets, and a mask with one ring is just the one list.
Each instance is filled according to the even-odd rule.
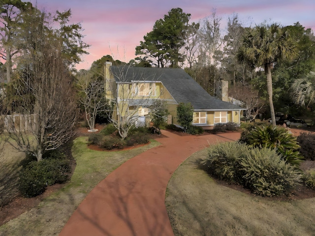
[[180,49],[185,44],[189,19],[190,14],[181,8],[171,9],[168,15],[156,21],[153,30],[136,47],[136,55],[141,55],[138,59],[150,60],[158,67],[178,67],[183,61]]

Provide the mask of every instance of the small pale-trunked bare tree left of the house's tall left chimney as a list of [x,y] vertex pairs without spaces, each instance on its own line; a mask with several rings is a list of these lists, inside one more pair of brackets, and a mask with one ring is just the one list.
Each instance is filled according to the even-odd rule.
[[92,72],[86,71],[80,74],[78,79],[80,102],[84,106],[85,116],[90,127],[90,131],[95,129],[95,119],[100,112],[106,112],[108,102],[105,98],[104,80],[94,79]]

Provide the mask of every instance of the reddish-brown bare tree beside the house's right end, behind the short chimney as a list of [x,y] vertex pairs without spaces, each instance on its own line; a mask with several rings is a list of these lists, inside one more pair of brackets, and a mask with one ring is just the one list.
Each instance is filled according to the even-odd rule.
[[258,95],[258,90],[250,86],[235,85],[229,93],[230,97],[241,102],[239,105],[246,108],[245,118],[249,121],[254,120],[265,106],[265,102]]

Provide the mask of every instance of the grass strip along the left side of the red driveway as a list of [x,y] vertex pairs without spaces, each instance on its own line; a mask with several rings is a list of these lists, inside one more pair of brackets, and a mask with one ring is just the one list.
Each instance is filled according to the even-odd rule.
[[58,235],[81,201],[102,179],[126,160],[159,145],[151,140],[143,147],[107,152],[87,148],[87,140],[87,137],[74,140],[72,155],[77,165],[71,180],[37,207],[2,225],[0,236]]

